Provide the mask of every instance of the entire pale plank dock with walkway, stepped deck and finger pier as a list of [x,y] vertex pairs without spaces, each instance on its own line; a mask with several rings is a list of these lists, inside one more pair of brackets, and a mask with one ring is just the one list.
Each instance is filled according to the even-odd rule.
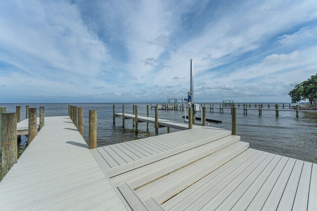
[[183,129],[89,150],[69,116],[45,117],[0,182],[0,210],[317,210],[316,163],[250,149],[230,130],[159,122]]

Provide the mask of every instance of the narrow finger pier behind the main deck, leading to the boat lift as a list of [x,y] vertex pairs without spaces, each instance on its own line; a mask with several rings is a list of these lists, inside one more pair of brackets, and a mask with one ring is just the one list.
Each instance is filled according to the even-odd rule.
[[[122,113],[115,113],[115,116],[122,116]],[[135,115],[133,114],[124,114],[124,118],[126,119],[135,119]],[[139,116],[138,115],[138,121],[139,122],[149,122],[152,124],[155,124],[155,118],[153,117],[147,117],[147,116]],[[187,130],[188,129],[188,123],[179,123],[179,122],[173,122],[171,120],[166,119],[159,119],[159,125],[163,127],[172,127],[178,130]],[[193,124],[193,129],[200,127],[199,125]]]

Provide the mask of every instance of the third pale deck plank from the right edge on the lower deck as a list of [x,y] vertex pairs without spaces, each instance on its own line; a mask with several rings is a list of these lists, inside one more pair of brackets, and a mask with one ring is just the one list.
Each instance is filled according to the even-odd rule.
[[293,171],[287,181],[282,198],[278,204],[278,211],[292,210],[298,182],[302,173],[304,161],[296,160]]

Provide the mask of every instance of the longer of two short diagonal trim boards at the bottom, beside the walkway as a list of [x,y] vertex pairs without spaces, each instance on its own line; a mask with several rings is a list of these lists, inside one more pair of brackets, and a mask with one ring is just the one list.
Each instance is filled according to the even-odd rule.
[[132,211],[150,211],[127,183],[119,186],[118,189]]

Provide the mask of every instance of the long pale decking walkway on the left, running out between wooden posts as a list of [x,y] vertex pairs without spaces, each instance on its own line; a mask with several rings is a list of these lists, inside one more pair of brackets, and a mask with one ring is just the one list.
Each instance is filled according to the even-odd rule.
[[45,126],[0,182],[0,210],[125,210],[68,116]]

